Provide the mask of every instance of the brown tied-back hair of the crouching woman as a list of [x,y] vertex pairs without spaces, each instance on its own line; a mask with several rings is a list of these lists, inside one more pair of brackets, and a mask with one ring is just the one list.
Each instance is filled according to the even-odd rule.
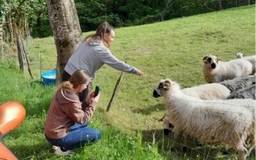
[[61,83],[60,88],[74,90],[77,88],[77,86],[88,83],[88,81],[90,81],[90,76],[88,76],[88,73],[85,70],[79,69],[72,74],[68,81]]

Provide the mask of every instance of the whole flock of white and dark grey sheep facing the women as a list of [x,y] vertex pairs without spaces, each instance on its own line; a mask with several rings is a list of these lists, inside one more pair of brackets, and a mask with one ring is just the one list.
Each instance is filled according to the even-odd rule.
[[[255,56],[220,61],[216,56],[203,58],[208,84],[181,89],[171,79],[161,80],[154,97],[164,97],[166,113],[164,134],[173,131],[175,139],[183,131],[200,143],[220,142],[246,159],[255,148]],[[249,143],[246,148],[246,142]]]

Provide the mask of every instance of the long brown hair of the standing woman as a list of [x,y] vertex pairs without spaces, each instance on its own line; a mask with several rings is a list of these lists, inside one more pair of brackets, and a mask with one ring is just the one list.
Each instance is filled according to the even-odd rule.
[[102,40],[103,44],[109,48],[110,44],[109,42],[106,42],[106,40],[104,39],[104,35],[105,34],[110,34],[111,31],[115,31],[115,29],[113,28],[113,26],[111,26],[108,22],[103,22],[102,24],[100,24],[100,26],[98,27],[98,29],[96,30],[96,33],[92,34],[92,35],[88,35],[85,37],[85,41],[87,44],[89,44],[90,42],[92,42],[92,40],[96,37],[99,36],[100,40]]

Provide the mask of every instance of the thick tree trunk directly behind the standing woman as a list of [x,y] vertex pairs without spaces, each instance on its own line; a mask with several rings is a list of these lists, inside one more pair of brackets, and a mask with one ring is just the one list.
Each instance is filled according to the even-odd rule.
[[60,84],[68,58],[81,42],[82,32],[74,0],[47,0],[47,9],[58,54],[56,82]]

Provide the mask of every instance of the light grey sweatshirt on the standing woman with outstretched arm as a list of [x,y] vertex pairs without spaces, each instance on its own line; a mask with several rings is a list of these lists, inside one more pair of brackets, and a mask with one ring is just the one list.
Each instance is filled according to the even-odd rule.
[[96,37],[90,44],[86,44],[83,40],[82,44],[80,44],[72,56],[70,56],[64,69],[70,75],[77,69],[86,70],[93,79],[96,70],[99,70],[105,63],[110,67],[124,72],[132,74],[139,72],[137,68],[127,65],[124,61],[115,58],[111,51],[99,40],[99,37]]

